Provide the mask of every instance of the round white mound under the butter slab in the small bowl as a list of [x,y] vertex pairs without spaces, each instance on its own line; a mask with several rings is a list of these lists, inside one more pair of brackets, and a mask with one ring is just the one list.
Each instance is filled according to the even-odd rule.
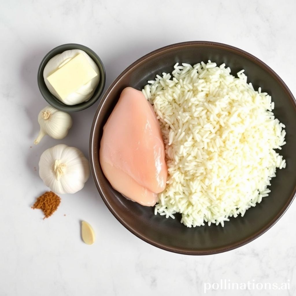
[[[55,91],[55,89],[52,87],[52,85],[49,83],[49,81],[47,80],[47,77],[80,53],[84,54],[89,64],[98,75],[93,79],[91,79],[91,81],[89,81],[88,83],[81,86],[77,91],[68,95],[67,98],[62,99],[59,96],[59,94]],[[43,70],[43,78],[48,90],[54,96],[56,96],[60,101],[62,101],[67,105],[75,105],[82,102],[86,102],[91,98],[91,96],[94,94],[96,87],[99,84],[100,72],[97,64],[86,52],[80,49],[71,49],[71,50],[66,50],[62,52],[61,54],[57,54],[56,56],[54,56],[48,61],[48,63],[45,65]]]

